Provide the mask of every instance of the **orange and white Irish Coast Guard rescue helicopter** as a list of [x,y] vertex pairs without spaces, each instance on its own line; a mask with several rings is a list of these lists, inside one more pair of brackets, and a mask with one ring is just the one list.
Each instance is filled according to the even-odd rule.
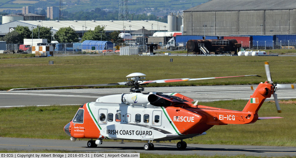
[[[145,150],[153,150],[153,141],[181,140],[178,149],[185,149],[183,139],[202,136],[214,125],[251,124],[260,119],[281,117],[258,117],[258,110],[266,98],[274,96],[280,112],[275,91],[281,88],[293,88],[294,85],[275,84],[271,80],[269,63],[265,62],[268,82],[260,83],[243,111],[220,109],[198,105],[194,100],[179,93],[163,94],[160,92],[142,93],[143,85],[148,83],[180,82],[201,79],[228,77],[210,77],[197,79],[163,79],[144,81],[143,73],[128,75],[127,82],[100,85],[79,85],[78,87],[96,87],[110,85],[128,85],[129,94],[115,94],[98,98],[95,102],[82,105],[64,131],[71,137],[91,139],[87,146],[97,147],[103,139],[142,140]],[[258,76],[258,75],[245,75]],[[77,87],[77,86],[63,86]],[[49,87],[41,87],[49,88]],[[30,88],[15,88],[30,89]],[[14,90],[14,89],[12,89]],[[96,140],[93,140],[96,139]]]

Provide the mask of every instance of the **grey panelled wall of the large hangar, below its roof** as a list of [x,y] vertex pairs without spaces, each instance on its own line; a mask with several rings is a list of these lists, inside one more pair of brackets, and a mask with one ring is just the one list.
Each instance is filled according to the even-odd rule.
[[208,36],[296,34],[295,17],[295,9],[184,12],[184,34],[203,35],[204,24]]

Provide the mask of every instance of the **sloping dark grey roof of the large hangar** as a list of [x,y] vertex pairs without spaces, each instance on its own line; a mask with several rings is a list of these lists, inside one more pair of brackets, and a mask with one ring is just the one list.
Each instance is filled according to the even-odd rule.
[[212,0],[196,7],[184,10],[191,11],[227,11],[227,10],[278,10],[296,9],[295,0]]

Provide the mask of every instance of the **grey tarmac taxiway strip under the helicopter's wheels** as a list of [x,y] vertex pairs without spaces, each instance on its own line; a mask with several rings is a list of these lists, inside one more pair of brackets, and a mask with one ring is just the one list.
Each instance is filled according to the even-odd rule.
[[[178,155],[247,155],[262,157],[296,156],[296,147],[248,146],[248,145],[202,145],[187,144],[185,150],[178,150],[174,143],[154,143],[153,151],[143,149],[144,142],[103,142],[97,148],[87,148],[87,141],[71,142],[70,140],[24,139],[0,137],[0,149],[6,150],[67,150],[73,152],[127,152]],[[188,141],[188,143],[190,143]]]

